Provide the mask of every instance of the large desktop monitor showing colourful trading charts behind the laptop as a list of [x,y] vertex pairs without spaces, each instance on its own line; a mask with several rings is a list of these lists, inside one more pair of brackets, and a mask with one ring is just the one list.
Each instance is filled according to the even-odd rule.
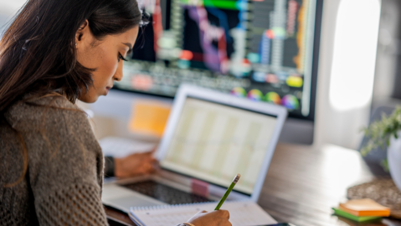
[[120,90],[182,82],[288,108],[281,140],[311,144],[323,0],[146,0]]

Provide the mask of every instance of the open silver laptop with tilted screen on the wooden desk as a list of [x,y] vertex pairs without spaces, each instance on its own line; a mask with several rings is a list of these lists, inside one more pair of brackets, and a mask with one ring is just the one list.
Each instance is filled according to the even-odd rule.
[[189,84],[177,91],[155,153],[157,173],[103,185],[104,205],[130,207],[202,203],[227,197],[257,202],[288,111]]

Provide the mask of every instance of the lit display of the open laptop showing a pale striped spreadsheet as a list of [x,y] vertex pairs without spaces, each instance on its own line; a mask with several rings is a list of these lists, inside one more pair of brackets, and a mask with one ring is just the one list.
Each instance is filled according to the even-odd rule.
[[234,190],[251,194],[277,116],[187,97],[160,165],[223,187],[238,173]]

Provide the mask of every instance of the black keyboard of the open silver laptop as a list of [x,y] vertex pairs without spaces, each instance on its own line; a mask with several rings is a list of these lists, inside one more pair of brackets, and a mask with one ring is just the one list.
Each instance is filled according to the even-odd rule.
[[133,184],[122,185],[126,188],[145,194],[170,205],[186,203],[213,202],[206,197],[187,193],[179,189],[157,183],[155,181],[141,181]]

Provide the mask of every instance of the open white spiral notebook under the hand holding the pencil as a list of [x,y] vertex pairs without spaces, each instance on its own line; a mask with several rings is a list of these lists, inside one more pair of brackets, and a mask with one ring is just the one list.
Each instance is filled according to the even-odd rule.
[[[187,222],[197,212],[213,211],[216,203],[195,203],[154,207],[132,207],[129,216],[140,226],[177,225]],[[225,202],[220,208],[230,212],[233,226],[275,224],[277,221],[253,202]]]

